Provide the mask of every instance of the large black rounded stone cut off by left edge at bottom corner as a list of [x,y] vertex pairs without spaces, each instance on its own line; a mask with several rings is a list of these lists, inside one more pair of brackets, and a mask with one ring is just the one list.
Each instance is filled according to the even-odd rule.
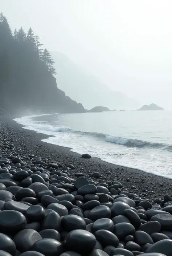
[[11,255],[15,255],[16,253],[15,243],[9,236],[3,233],[0,233],[0,250],[8,252]]

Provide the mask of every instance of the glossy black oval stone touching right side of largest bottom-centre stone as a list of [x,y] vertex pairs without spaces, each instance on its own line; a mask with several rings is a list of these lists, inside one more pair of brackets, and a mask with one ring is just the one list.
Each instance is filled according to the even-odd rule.
[[117,247],[119,244],[118,237],[108,230],[105,230],[105,229],[97,230],[94,233],[94,235],[96,239],[102,244],[103,247],[106,247],[107,245],[112,245],[114,247]]

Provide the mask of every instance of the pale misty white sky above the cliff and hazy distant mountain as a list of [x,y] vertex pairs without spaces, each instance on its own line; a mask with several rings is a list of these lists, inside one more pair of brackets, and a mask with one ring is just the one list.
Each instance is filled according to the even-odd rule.
[[172,109],[172,0],[0,0],[1,11],[108,87]]

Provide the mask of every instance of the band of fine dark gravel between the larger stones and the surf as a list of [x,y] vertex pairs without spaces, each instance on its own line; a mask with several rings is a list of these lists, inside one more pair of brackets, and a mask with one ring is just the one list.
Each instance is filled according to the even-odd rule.
[[41,157],[42,160],[48,158],[58,163],[73,164],[76,169],[71,170],[71,176],[74,176],[75,172],[85,174],[99,171],[103,175],[103,178],[98,178],[99,182],[119,180],[129,190],[132,185],[135,186],[136,190],[132,189],[132,191],[138,195],[145,193],[143,190],[146,189],[146,198],[163,198],[165,194],[172,194],[171,179],[106,163],[98,158],[83,159],[81,155],[71,152],[69,148],[42,142],[41,139],[49,136],[23,129],[22,125],[10,117],[0,117],[0,133],[3,134],[4,140],[15,144],[19,157],[28,157],[29,154],[33,154],[35,157]]

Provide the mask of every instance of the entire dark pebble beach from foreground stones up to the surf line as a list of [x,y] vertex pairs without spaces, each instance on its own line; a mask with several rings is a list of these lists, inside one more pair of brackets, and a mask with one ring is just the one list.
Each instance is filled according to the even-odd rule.
[[171,179],[47,137],[0,117],[0,256],[172,255]]

